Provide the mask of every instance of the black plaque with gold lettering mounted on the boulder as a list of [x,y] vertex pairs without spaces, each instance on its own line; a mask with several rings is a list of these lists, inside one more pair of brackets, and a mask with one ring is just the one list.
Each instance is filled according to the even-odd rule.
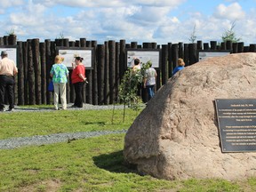
[[215,100],[222,152],[256,151],[256,100]]

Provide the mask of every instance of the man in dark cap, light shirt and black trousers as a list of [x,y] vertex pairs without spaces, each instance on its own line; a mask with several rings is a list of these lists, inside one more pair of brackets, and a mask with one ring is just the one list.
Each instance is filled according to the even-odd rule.
[[14,108],[14,90],[15,84],[14,76],[18,73],[18,69],[13,60],[8,58],[6,51],[1,52],[0,60],[0,112],[4,111],[4,96],[5,90],[8,95],[9,110],[12,111]]

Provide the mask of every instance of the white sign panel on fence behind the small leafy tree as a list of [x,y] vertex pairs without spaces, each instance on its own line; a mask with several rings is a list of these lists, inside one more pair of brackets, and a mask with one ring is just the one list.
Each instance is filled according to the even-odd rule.
[[127,68],[132,68],[134,66],[134,60],[136,58],[140,60],[140,63],[147,63],[149,60],[151,60],[153,68],[160,67],[160,50],[127,49],[126,50]]

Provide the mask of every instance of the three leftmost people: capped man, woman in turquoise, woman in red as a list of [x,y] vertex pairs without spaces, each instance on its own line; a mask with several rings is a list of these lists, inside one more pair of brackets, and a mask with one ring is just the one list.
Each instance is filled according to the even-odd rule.
[[[0,112],[4,111],[5,93],[9,102],[8,111],[14,108],[14,76],[18,73],[18,68],[13,60],[8,58],[6,51],[1,52],[0,60]],[[67,109],[66,84],[68,83],[68,68],[63,64],[64,58],[57,55],[52,65],[50,76],[54,86],[54,108],[59,110],[59,94],[62,109]],[[72,63],[71,82],[74,85],[76,99],[73,108],[83,108],[83,85],[86,81],[85,67],[82,57],[75,57]]]

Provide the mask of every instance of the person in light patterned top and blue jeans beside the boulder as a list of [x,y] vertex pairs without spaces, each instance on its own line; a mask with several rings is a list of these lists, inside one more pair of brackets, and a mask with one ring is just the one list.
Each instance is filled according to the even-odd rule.
[[152,62],[148,63],[148,69],[145,71],[144,75],[144,88],[148,91],[148,100],[151,100],[155,94],[154,87],[156,84],[156,69],[152,68]]

